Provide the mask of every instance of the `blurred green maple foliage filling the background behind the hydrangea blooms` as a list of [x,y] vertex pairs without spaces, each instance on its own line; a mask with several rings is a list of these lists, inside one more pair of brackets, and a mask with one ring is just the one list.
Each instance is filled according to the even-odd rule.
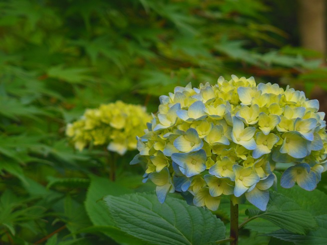
[[307,95],[327,88],[324,55],[301,48],[297,28],[290,30],[292,6],[295,0],[1,0],[0,243],[122,242],[113,231],[78,231],[108,225],[94,200],[153,187],[141,183],[141,167],[128,165],[135,152],[118,159],[112,183],[106,152],[70,147],[65,126],[85,108],[121,99],[155,112],[158,96],[176,85],[231,74]]

